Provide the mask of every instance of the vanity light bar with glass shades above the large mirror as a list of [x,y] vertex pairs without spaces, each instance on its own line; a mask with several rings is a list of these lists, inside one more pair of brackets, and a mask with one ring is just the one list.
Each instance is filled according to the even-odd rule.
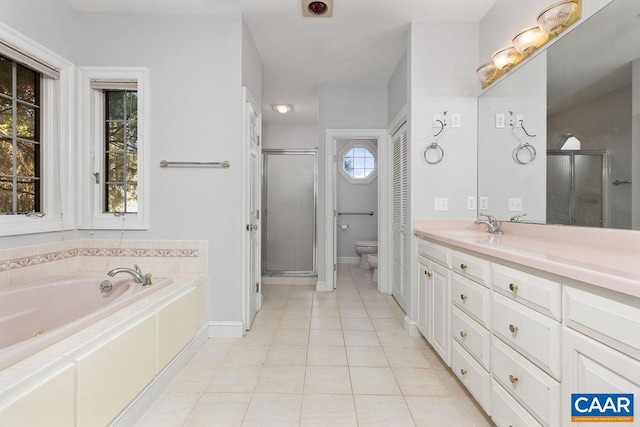
[[[513,38],[512,45],[493,54],[493,63],[481,65],[476,71],[486,88],[503,74],[531,55],[551,39],[562,33],[582,17],[582,0],[564,0],[549,6],[538,15],[538,26],[520,31]],[[495,72],[494,72],[495,71]]]

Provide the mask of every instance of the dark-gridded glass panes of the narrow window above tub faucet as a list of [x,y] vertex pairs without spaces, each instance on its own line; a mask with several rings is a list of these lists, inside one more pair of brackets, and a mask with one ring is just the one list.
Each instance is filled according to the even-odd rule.
[[105,90],[105,212],[138,212],[138,92]]

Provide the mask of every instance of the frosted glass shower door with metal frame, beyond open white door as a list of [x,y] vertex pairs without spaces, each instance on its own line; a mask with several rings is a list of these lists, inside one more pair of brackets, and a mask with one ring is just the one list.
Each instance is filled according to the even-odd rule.
[[315,151],[263,150],[262,272],[316,274]]

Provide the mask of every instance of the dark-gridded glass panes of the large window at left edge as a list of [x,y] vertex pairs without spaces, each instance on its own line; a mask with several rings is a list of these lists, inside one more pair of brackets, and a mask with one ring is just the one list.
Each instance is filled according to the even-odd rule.
[[40,79],[0,56],[0,214],[41,210]]

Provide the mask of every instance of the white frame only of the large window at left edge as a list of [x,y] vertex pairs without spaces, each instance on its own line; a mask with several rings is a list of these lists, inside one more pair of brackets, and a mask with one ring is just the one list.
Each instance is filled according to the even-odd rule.
[[74,228],[75,66],[25,35],[0,23],[0,41],[59,71],[41,84],[41,212],[44,216],[0,215],[0,236]]

